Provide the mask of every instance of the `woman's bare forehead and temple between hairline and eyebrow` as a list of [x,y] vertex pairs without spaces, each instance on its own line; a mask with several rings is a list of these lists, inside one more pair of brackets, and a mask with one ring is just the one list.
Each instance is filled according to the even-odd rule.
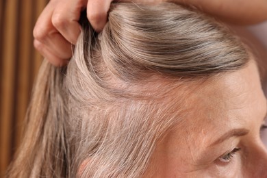
[[197,147],[196,154],[231,130],[251,131],[266,116],[266,99],[253,62],[192,94],[185,120],[170,131],[168,140],[179,147]]

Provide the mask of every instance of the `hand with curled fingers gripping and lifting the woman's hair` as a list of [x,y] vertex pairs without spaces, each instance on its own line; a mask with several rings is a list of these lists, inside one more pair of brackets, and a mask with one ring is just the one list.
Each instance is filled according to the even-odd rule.
[[72,44],[80,33],[82,10],[96,31],[107,21],[112,0],[51,0],[34,27],[34,47],[55,66],[63,66],[72,56]]

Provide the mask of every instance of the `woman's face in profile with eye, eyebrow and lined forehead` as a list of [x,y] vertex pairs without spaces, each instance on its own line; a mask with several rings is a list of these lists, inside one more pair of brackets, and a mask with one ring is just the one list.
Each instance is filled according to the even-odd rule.
[[154,177],[267,177],[266,99],[254,62],[194,92],[194,109],[157,146]]

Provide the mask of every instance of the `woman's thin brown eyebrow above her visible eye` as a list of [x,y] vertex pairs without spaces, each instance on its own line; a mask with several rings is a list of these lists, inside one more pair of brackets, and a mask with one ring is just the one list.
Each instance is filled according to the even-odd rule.
[[245,136],[247,133],[249,133],[249,129],[232,129],[230,131],[227,131],[227,133],[223,134],[223,136],[220,136],[220,138],[218,138],[215,142],[212,142],[212,144],[210,144],[209,147],[224,142],[225,140],[231,137]]

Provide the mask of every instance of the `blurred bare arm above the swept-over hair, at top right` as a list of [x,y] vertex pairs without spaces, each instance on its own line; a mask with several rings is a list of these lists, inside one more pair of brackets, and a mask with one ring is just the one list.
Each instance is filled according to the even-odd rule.
[[235,25],[251,25],[267,20],[266,0],[164,0],[192,5],[220,20]]

